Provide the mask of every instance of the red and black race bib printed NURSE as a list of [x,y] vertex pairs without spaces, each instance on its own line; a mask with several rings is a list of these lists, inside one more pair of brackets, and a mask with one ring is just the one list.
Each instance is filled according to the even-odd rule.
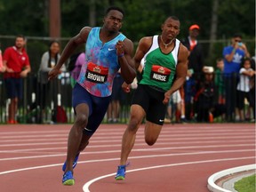
[[150,78],[157,82],[168,82],[171,70],[162,66],[153,65],[151,68]]

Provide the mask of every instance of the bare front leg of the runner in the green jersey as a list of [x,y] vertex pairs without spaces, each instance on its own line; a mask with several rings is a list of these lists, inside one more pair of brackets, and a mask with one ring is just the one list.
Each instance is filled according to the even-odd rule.
[[132,105],[130,121],[124,132],[122,140],[120,165],[126,164],[127,158],[131,153],[135,142],[136,132],[138,131],[144,116],[145,111],[143,108],[139,105]]

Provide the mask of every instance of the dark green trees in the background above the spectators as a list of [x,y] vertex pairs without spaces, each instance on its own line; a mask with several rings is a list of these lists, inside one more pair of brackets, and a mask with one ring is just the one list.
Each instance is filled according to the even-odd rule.
[[[49,37],[49,1],[0,0],[0,36]],[[243,35],[250,53],[255,54],[255,0],[60,0],[60,38],[75,36],[84,26],[101,26],[109,5],[124,9],[122,31],[135,44],[142,36],[159,34],[164,19],[175,15],[180,19],[179,39],[188,36],[191,24],[200,26],[207,62],[221,56],[235,33]],[[2,41],[0,37],[3,50],[10,43]],[[30,45],[47,49],[40,43]]]

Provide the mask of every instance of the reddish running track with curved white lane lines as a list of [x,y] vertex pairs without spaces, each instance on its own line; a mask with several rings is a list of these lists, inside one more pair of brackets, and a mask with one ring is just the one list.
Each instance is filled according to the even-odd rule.
[[255,124],[164,124],[153,147],[143,127],[124,181],[114,180],[125,124],[101,124],[62,186],[70,124],[0,125],[2,192],[207,192],[215,172],[255,164]]

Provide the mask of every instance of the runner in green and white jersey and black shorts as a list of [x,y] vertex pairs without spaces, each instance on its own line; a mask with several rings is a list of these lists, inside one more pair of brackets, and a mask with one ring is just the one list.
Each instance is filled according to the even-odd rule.
[[[127,158],[144,117],[146,116],[145,141],[152,146],[161,132],[172,93],[176,92],[186,79],[188,49],[176,39],[179,33],[180,20],[171,16],[164,20],[160,36],[146,36],[140,39],[133,60],[136,69],[143,58],[145,64],[142,79],[132,98],[131,116],[123,135],[116,180],[124,180]],[[129,84],[124,83],[123,88],[126,92],[130,91]]]

